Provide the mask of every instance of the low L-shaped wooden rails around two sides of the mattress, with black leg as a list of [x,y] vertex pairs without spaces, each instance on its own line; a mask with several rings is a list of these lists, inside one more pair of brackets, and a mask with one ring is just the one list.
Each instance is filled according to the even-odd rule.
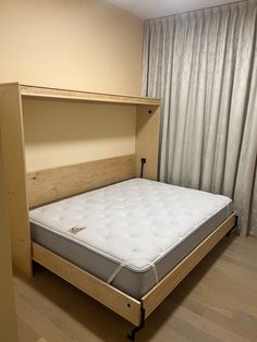
[[161,304],[172,290],[193,270],[193,268],[227,235],[235,225],[235,212],[207,236],[186,258],[172,269],[140,301],[101,281],[97,277],[63,259],[47,248],[33,243],[33,260],[75,285],[89,296],[109,307],[134,326],[127,335],[135,340],[135,334],[143,327],[145,319]]

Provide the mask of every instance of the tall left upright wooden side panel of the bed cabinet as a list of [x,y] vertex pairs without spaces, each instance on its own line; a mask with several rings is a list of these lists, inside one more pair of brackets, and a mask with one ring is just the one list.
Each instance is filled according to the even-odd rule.
[[0,120],[12,259],[16,268],[30,276],[30,229],[26,198],[22,100],[19,84],[0,86]]

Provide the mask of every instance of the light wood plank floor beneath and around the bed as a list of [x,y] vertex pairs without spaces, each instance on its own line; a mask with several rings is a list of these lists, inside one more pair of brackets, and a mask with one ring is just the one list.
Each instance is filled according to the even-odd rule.
[[[126,341],[130,323],[42,268],[14,286],[21,342]],[[223,239],[137,341],[257,341],[257,239]]]

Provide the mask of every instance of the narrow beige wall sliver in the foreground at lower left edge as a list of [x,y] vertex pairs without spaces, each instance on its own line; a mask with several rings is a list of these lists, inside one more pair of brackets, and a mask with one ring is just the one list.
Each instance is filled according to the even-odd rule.
[[0,341],[15,342],[17,341],[17,331],[13,298],[10,232],[7,224],[3,197],[2,151],[0,145]]

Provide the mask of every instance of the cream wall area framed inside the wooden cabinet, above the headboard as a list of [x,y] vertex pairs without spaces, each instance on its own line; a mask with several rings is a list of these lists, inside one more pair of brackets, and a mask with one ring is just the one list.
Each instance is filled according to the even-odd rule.
[[133,106],[26,99],[23,114],[28,171],[135,152]]

